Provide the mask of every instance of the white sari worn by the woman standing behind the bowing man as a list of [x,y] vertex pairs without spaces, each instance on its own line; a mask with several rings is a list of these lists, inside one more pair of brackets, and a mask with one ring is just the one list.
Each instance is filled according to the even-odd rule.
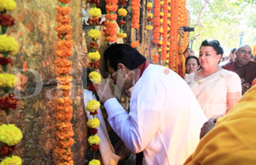
[[195,94],[205,115],[218,117],[228,110],[227,94],[241,93],[241,79],[235,72],[220,69],[208,77],[197,78],[197,72],[186,75],[185,81]]

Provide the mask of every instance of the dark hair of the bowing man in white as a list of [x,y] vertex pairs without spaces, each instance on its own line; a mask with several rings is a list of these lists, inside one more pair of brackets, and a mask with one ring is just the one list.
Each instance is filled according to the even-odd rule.
[[142,65],[146,61],[146,58],[136,48],[131,48],[130,45],[113,44],[105,50],[104,60],[106,64],[109,61],[109,66],[114,71],[117,71],[119,63],[125,65],[129,70],[133,70],[139,65]]

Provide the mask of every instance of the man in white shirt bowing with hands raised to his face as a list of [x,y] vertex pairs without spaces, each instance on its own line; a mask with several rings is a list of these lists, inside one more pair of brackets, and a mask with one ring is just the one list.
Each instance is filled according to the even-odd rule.
[[148,65],[130,45],[116,44],[104,53],[113,82],[131,93],[130,112],[113,97],[108,84],[96,87],[108,111],[108,122],[135,153],[143,151],[148,165],[180,165],[199,142],[207,121],[188,84],[174,71]]

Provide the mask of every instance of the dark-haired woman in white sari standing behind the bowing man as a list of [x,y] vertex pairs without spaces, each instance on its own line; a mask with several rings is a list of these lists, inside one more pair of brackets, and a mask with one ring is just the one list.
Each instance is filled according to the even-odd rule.
[[223,54],[217,40],[205,40],[199,56],[202,69],[185,77],[208,118],[224,115],[241,98],[240,77],[218,66]]

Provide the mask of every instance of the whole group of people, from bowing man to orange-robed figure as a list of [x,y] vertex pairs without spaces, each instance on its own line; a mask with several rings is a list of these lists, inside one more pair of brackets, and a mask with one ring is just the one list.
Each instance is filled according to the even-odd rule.
[[106,81],[96,84],[96,92],[126,147],[143,151],[148,165],[255,164],[256,157],[248,156],[256,153],[252,49],[233,49],[221,67],[223,54],[217,40],[203,41],[198,58],[187,48],[186,73],[180,77],[148,64],[130,45],[107,48],[104,60],[113,83],[123,92],[132,88],[129,112]]

